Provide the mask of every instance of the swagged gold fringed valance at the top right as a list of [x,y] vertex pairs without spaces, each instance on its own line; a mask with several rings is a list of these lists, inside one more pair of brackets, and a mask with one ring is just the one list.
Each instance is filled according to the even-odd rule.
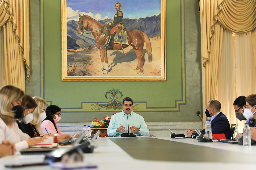
[[256,0],[201,0],[200,13],[203,67],[209,62],[215,25],[236,33],[256,29]]

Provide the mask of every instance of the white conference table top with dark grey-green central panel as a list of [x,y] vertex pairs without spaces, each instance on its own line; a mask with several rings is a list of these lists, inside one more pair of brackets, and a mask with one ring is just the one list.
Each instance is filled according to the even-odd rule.
[[[143,138],[143,139],[141,139]],[[162,141],[165,143],[165,145],[172,145],[173,147],[180,148],[180,152],[170,152],[166,149],[165,155],[169,154],[168,156],[170,158],[174,158],[171,161],[166,160],[159,160],[158,158],[156,160],[142,160],[142,159],[136,159],[136,155],[130,155],[129,151],[125,152],[121,147],[119,146],[120,140],[129,141],[130,147],[133,147],[133,149],[140,150],[142,148],[141,145],[138,147],[138,142],[136,140],[145,141],[149,139],[150,141],[155,141],[156,139],[150,139],[150,138],[156,138],[156,139],[163,139],[167,141]],[[119,141],[119,144],[115,144],[113,141]],[[228,143],[199,143],[196,139],[171,139],[170,137],[136,137],[134,138],[121,138],[117,139],[117,137],[100,137],[94,141],[96,145],[98,145],[97,148],[94,149],[94,152],[91,154],[84,154],[84,162],[88,163],[89,165],[98,165],[97,169],[164,169],[164,168],[174,168],[174,169],[255,169],[256,167],[256,146],[246,147],[241,145],[230,145]],[[201,147],[202,146],[202,147]],[[165,147],[165,146],[162,146]],[[197,152],[189,152],[191,148],[208,148],[210,152],[206,153],[197,153]],[[152,148],[155,148],[152,146]],[[172,148],[170,146],[166,146],[166,148]],[[212,149],[213,148],[213,149]],[[127,150],[127,148],[126,148]],[[216,155],[214,152],[220,151],[219,156]],[[227,152],[225,152],[227,151]],[[141,151],[142,154],[144,151]],[[152,153],[150,154],[155,155],[156,151],[152,149]],[[218,152],[217,152],[218,153]],[[148,153],[146,153],[148,154]],[[202,154],[206,157],[204,160],[197,159],[196,155]],[[212,155],[215,154],[215,155]],[[231,155],[230,155],[231,154]],[[175,155],[177,157],[184,157],[184,160],[179,160],[178,158],[175,159]],[[9,169],[4,168],[3,164],[8,162],[15,162],[15,159],[19,157],[19,154],[13,155],[13,156],[6,156],[0,159],[0,169]],[[157,154],[156,154],[157,156]],[[159,155],[158,155],[159,156]],[[227,157],[232,158],[234,157],[236,161],[225,161],[224,159],[221,160],[219,157]],[[245,158],[247,156],[247,158]],[[249,156],[249,157],[248,157]],[[141,156],[143,157],[143,156]],[[190,157],[192,157],[190,159]],[[201,156],[202,157],[202,156]],[[150,156],[150,159],[152,159],[152,156]],[[255,159],[255,160],[254,160]],[[193,161],[191,161],[193,160]],[[230,159],[229,159],[230,160]],[[241,160],[241,161],[239,161]],[[254,160],[254,161],[253,161]],[[25,169],[36,169],[36,170],[47,170],[52,169],[49,165],[39,165],[39,166],[31,166],[31,167],[20,167],[19,170],[25,170]]]

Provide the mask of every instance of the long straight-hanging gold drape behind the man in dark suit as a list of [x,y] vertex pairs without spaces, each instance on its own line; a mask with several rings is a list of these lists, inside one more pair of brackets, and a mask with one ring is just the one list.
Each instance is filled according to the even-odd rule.
[[[202,77],[203,77],[203,111],[208,101],[215,99],[215,92],[220,65],[223,27],[215,20],[217,5],[222,0],[201,0],[201,39],[202,39]],[[203,114],[204,120],[206,115]]]

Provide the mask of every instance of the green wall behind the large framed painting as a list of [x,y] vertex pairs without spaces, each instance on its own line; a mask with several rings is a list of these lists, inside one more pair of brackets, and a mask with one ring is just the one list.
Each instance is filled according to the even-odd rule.
[[[185,39],[185,105],[177,105],[179,111],[141,111],[146,122],[155,121],[200,121],[196,112],[202,112],[201,78],[201,36],[200,16],[197,0],[184,0],[181,10],[179,0],[166,0],[166,81],[61,81],[61,2],[30,0],[30,61],[31,80],[26,82],[26,93],[44,97],[46,101],[62,108],[79,108],[81,102],[107,102],[104,97],[108,89],[119,89],[124,96],[137,102],[147,102],[148,107],[175,107],[175,100],[181,100],[181,33]],[[42,6],[43,5],[43,6]],[[40,26],[40,8],[44,21]],[[181,23],[181,11],[184,23]],[[182,32],[182,27],[185,33]],[[42,28],[42,29],[40,29]],[[40,82],[40,35],[44,35],[44,86]],[[185,52],[185,53],[184,53]],[[179,63],[179,64],[177,64]],[[43,66],[43,65],[42,65]],[[40,86],[41,85],[41,86]],[[42,93],[41,91],[42,90]],[[121,101],[122,99],[119,98]],[[170,109],[171,110],[171,109]],[[117,110],[116,110],[117,111]],[[108,115],[115,113],[109,111]],[[103,118],[106,112],[64,112],[61,122],[90,122],[92,117]]]

